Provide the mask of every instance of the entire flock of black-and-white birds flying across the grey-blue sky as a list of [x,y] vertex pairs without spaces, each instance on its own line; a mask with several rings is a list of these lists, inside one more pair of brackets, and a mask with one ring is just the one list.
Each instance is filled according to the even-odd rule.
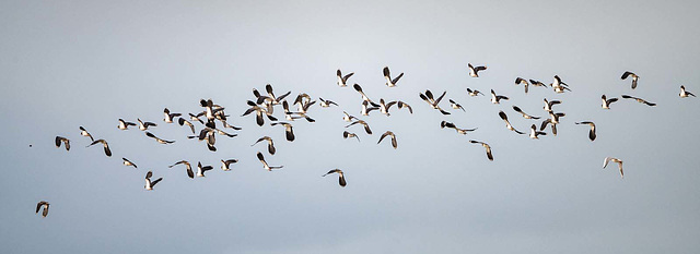
[[[471,77],[479,77],[479,73],[483,72],[487,70],[487,66],[485,65],[479,65],[479,66],[474,66],[471,63],[468,64],[468,69],[469,69],[469,76]],[[400,81],[400,78],[404,76],[404,73],[400,73],[396,76],[392,76],[390,71],[388,68],[384,68],[383,69],[383,73],[384,73],[384,77],[386,80],[385,85],[388,87],[396,87],[398,82]],[[348,74],[342,74],[342,72],[340,70],[337,71],[337,84],[340,87],[346,87],[349,85],[349,80],[352,77],[352,75],[354,75],[354,73],[348,73]],[[632,73],[632,72],[625,72],[621,76],[621,80],[631,80],[631,88],[634,89],[638,86],[638,82],[639,82],[639,75]],[[567,92],[571,92],[571,89],[569,88],[569,85],[567,83],[564,83],[558,75],[553,76],[553,81],[550,84],[545,84],[542,82],[536,81],[536,80],[526,80],[523,77],[517,77],[515,78],[515,85],[523,85],[525,88],[525,94],[528,93],[529,90],[529,86],[539,86],[539,87],[551,87],[553,89],[555,93],[557,94],[561,94],[561,93],[567,93]],[[359,84],[353,84],[352,87],[354,88],[354,90],[357,90],[361,98],[362,101],[360,102],[360,113],[363,117],[370,116],[370,113],[372,111],[378,111],[382,114],[385,116],[390,116],[389,111],[392,109],[393,106],[396,105],[397,110],[401,110],[401,109],[407,109],[409,113],[413,113],[413,110],[411,108],[411,106],[409,106],[408,104],[401,101],[401,100],[394,100],[394,101],[385,101],[383,98],[381,98],[378,100],[378,102],[370,99],[370,97],[362,90],[362,87]],[[254,98],[250,100],[247,100],[246,104],[249,106],[249,108],[241,116],[241,117],[246,117],[246,116],[250,116],[253,113],[255,113],[255,121],[257,123],[257,125],[262,126],[265,125],[265,119],[267,118],[270,121],[270,125],[271,126],[276,126],[276,125],[281,125],[284,128],[284,133],[285,133],[285,138],[288,142],[293,142],[295,136],[294,136],[294,131],[293,131],[293,125],[290,122],[293,122],[295,120],[305,120],[307,122],[315,122],[316,120],[314,120],[313,118],[310,117],[308,114],[308,110],[311,109],[311,107],[313,105],[316,104],[316,100],[313,100],[312,97],[305,93],[301,93],[296,96],[296,98],[293,100],[292,106],[296,106],[296,110],[292,111],[290,110],[290,104],[288,102],[288,100],[285,99],[291,92],[287,92],[280,96],[276,96],[275,95],[275,90],[272,88],[271,85],[266,85],[265,89],[267,92],[266,95],[259,93],[257,89],[253,89],[253,95]],[[427,89],[424,93],[420,93],[419,97],[424,100],[432,109],[438,110],[440,113],[442,114],[451,114],[451,112],[444,110],[443,108],[441,108],[441,102],[443,100],[443,98],[445,97],[447,92],[443,92],[440,96],[435,97],[433,95],[433,93],[429,89]],[[494,105],[499,105],[502,100],[509,100],[508,96],[504,95],[500,95],[497,94],[493,89],[491,89],[491,102]],[[477,90],[477,89],[471,89],[471,88],[467,88],[467,95],[471,96],[471,97],[476,97],[476,96],[485,96],[483,93]],[[686,90],[685,86],[680,86],[680,94],[679,97],[681,98],[687,98],[687,97],[696,97],[696,95],[693,95],[692,93]],[[646,101],[642,98],[638,98],[634,96],[629,96],[629,95],[621,95],[620,96],[622,99],[631,99],[631,100],[635,100],[640,104],[644,104],[646,106],[650,107],[654,107],[656,106],[656,104],[654,102],[650,102]],[[610,105],[618,101],[619,98],[607,98],[606,95],[603,95],[602,97],[602,108],[603,109],[610,109]],[[331,100],[327,100],[327,99],[323,99],[323,98],[318,98],[318,105],[322,108],[328,108],[331,106],[335,107],[339,107],[338,104],[331,101]],[[455,109],[455,110],[465,110],[464,107],[459,104],[457,104],[454,99],[448,99],[450,102],[450,108]],[[545,130],[547,129],[547,125],[550,126],[551,129],[551,134],[552,135],[557,135],[557,125],[560,124],[560,118],[565,117],[567,114],[563,112],[556,112],[555,111],[555,106],[561,104],[560,100],[547,100],[547,98],[544,99],[544,111],[548,114],[548,118],[545,118],[544,120],[541,120],[541,123],[539,124],[539,128],[537,126],[537,124],[532,124],[530,125],[530,131],[529,131],[529,137],[533,140],[538,140],[539,136],[541,135],[547,135],[548,133],[545,132]],[[277,106],[282,106],[282,110],[283,110],[283,117],[287,121],[280,121],[277,117],[273,116],[275,112],[275,108]],[[211,99],[201,99],[199,101],[199,107],[200,109],[198,110],[197,113],[188,113],[187,116],[185,116],[184,113],[176,113],[176,112],[171,112],[167,108],[165,108],[163,110],[163,114],[164,114],[164,119],[163,121],[165,123],[175,123],[177,122],[180,126],[185,126],[187,125],[187,128],[189,129],[189,131],[191,131],[192,135],[187,136],[187,138],[192,138],[192,140],[198,140],[198,141],[205,141],[205,144],[207,145],[207,148],[211,152],[217,152],[217,147],[215,147],[215,142],[217,142],[217,134],[221,135],[221,136],[226,136],[226,137],[235,137],[237,136],[237,134],[231,134],[228,133],[226,129],[231,129],[233,131],[241,131],[242,128],[238,126],[234,126],[229,124],[226,121],[229,119],[229,114],[226,114],[224,112],[224,107],[214,104]],[[520,114],[522,114],[523,118],[528,119],[528,120],[540,120],[541,117],[536,117],[536,116],[532,116],[528,114],[526,112],[524,112],[520,107],[517,106],[512,106],[513,110]],[[504,111],[499,111],[499,117],[501,118],[501,120],[504,121],[505,123],[505,128],[510,131],[515,132],[518,135],[525,135],[527,134],[526,132],[523,131],[518,131],[517,129],[515,129],[509,121],[508,119],[508,114]],[[343,121],[349,122],[349,124],[346,125],[346,129],[342,132],[342,136],[343,138],[355,138],[358,142],[360,142],[360,137],[357,133],[350,132],[349,130],[352,130],[351,128],[353,125],[362,125],[364,132],[368,135],[372,135],[372,129],[370,128],[370,124],[364,121],[361,120],[358,117],[351,116],[349,114],[347,111],[343,111]],[[118,125],[117,129],[119,130],[129,130],[129,126],[138,126],[138,129],[140,131],[143,131],[145,133],[147,137],[153,138],[155,142],[160,143],[160,144],[173,144],[175,143],[175,141],[168,141],[168,140],[163,140],[160,138],[158,136],[155,136],[153,133],[149,132],[150,129],[152,128],[156,128],[158,124],[154,122],[144,122],[141,121],[141,119],[137,119],[138,123],[133,123],[133,122],[128,122],[124,119],[119,119],[118,120]],[[196,124],[197,123],[197,124]],[[575,122],[575,124],[581,124],[581,125],[588,125],[590,126],[590,131],[588,131],[588,138],[593,142],[596,140],[596,125],[594,122],[592,121],[581,121],[581,122]],[[474,132],[477,130],[477,128],[474,129],[460,129],[458,126],[456,126],[454,123],[452,122],[447,122],[447,121],[442,121],[440,123],[440,126],[442,129],[454,129],[456,131],[456,133],[458,134],[463,134],[466,135],[469,132]],[[197,128],[199,128],[199,132],[197,132]],[[112,150],[109,149],[109,144],[107,143],[107,141],[105,140],[95,140],[91,133],[88,132],[88,130],[85,130],[83,126],[80,126],[80,135],[89,137],[91,143],[90,145],[88,145],[86,147],[96,145],[96,144],[102,144],[104,153],[107,157],[112,156]],[[380,138],[377,144],[381,144],[384,140],[389,140],[390,138],[390,144],[392,147],[394,147],[395,149],[398,147],[398,143],[397,143],[397,138],[396,138],[396,134],[392,131],[386,131],[384,132]],[[66,148],[66,150],[70,150],[70,143],[71,141],[67,137],[63,136],[56,136],[55,140],[56,143],[56,147],[60,147],[61,145]],[[267,144],[267,153],[270,156],[273,156],[275,153],[277,152],[276,147],[275,147],[275,143],[272,141],[272,138],[270,136],[262,136],[260,138],[258,138],[254,144],[252,144],[250,146],[256,146],[259,143],[266,143]],[[493,160],[493,154],[491,150],[491,146],[486,143],[486,142],[481,142],[481,141],[476,141],[476,140],[470,140],[469,143],[471,144],[477,144],[482,146],[486,149],[486,156],[489,160]],[[30,145],[31,146],[31,145]],[[257,153],[257,158],[259,159],[261,166],[264,169],[268,170],[268,171],[272,171],[272,170],[278,170],[278,169],[282,169],[283,166],[270,166],[267,160],[265,159],[265,156],[261,152]],[[237,159],[221,159],[221,169],[224,171],[229,171],[231,170],[231,166],[233,164],[236,164],[238,160]],[[603,164],[603,168],[606,168],[607,165],[609,162],[615,162],[618,165],[618,169],[620,171],[620,177],[623,178],[625,173],[622,171],[622,160],[618,159],[618,158],[614,158],[614,157],[606,157],[604,159],[604,164]],[[122,157],[122,164],[127,167],[133,167],[133,168],[138,168],[138,166],[130,161],[127,158]],[[173,168],[176,166],[184,166],[187,172],[187,177],[189,177],[190,179],[194,179],[195,177],[205,177],[205,173],[209,170],[212,170],[213,167],[212,166],[202,166],[201,161],[197,162],[197,172],[195,173],[195,171],[192,170],[192,166],[189,161],[187,160],[180,160],[177,162],[174,162],[173,165],[168,166],[168,168]],[[325,174],[323,174],[322,177],[326,177],[329,174],[337,174],[338,176],[338,182],[340,186],[346,186],[347,182],[346,182],[346,178],[345,178],[345,172],[341,169],[332,169],[328,172],[326,172]],[[145,184],[144,184],[144,189],[147,191],[152,191],[154,189],[154,186],[160,183],[163,178],[158,178],[152,180],[153,178],[153,172],[152,171],[148,171],[145,173]],[[39,210],[42,210],[43,208],[43,213],[42,215],[44,217],[46,217],[48,215],[48,209],[49,209],[49,203],[46,201],[40,201],[39,203],[37,203],[36,205],[36,214],[39,213]]]

